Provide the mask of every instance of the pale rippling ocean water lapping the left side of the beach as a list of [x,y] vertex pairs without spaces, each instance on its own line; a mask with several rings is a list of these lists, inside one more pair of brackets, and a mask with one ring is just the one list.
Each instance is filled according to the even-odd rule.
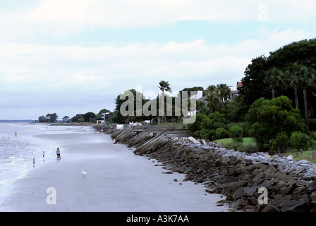
[[35,135],[51,133],[48,127],[52,126],[0,123],[0,203],[6,196],[12,194],[14,182],[25,177],[33,169],[33,158],[36,161],[35,167],[41,167],[51,159],[51,155],[56,151],[56,144],[35,137]]

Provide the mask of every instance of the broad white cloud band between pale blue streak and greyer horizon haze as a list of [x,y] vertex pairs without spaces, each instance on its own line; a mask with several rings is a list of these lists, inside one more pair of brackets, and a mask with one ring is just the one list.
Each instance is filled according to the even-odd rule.
[[226,81],[234,85],[253,57],[267,56],[269,51],[307,36],[300,30],[262,30],[259,40],[234,45],[210,45],[205,40],[98,47],[4,43],[0,45],[0,69],[4,75],[0,79],[3,84],[25,84],[35,89],[38,84],[74,90],[84,85],[97,90],[104,87],[114,93],[133,88],[131,85],[156,88],[149,84],[161,78],[170,78],[178,89],[189,86],[186,81],[202,85],[205,78],[212,78],[212,83]]

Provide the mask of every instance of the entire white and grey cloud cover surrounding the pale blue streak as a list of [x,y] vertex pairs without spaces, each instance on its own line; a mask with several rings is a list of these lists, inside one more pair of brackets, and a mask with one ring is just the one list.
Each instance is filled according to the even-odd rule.
[[[294,14],[294,7],[307,6],[289,2],[292,5],[284,7],[292,7]],[[68,109],[64,114],[77,114],[98,106],[112,109],[117,95],[137,85],[144,92],[158,92],[161,80],[169,81],[174,91],[195,85],[235,85],[253,57],[267,56],[269,51],[311,35],[293,28],[262,27],[251,39],[235,44],[209,43],[198,37],[186,42],[92,46],[85,41],[80,45],[62,41],[38,44],[38,40],[63,40],[96,27],[156,28],[183,20],[258,20],[258,5],[255,1],[47,0],[20,13],[0,13],[0,106],[55,107],[64,112]],[[278,5],[267,1],[268,20],[279,19],[274,6]],[[304,17],[312,18],[309,12]]]

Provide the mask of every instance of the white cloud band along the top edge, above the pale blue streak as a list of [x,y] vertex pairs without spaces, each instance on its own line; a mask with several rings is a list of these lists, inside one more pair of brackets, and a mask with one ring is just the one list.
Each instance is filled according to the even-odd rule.
[[[34,30],[30,25],[36,25],[42,35],[63,37],[96,27],[157,28],[183,20],[310,23],[316,18],[315,7],[316,2],[312,0],[269,0],[264,3],[253,0],[46,0],[19,12],[18,16],[4,15],[11,18],[14,25],[28,23],[28,29]],[[2,23],[6,24],[6,21]],[[9,25],[7,29],[10,29]]]

